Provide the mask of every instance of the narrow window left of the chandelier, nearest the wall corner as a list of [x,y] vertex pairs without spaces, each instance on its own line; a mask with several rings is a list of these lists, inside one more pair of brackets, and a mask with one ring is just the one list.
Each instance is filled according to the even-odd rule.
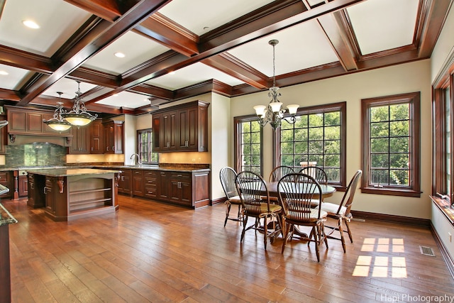
[[234,123],[236,171],[262,175],[262,128],[257,116],[235,117]]

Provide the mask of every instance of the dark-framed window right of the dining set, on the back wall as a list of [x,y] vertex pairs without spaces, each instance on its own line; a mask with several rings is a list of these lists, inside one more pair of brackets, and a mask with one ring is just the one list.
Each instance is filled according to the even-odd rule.
[[419,95],[362,99],[362,192],[421,196]]

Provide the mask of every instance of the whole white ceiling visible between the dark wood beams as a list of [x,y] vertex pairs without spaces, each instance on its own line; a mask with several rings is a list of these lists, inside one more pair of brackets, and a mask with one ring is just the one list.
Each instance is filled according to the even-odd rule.
[[[271,2],[273,1],[173,0],[162,7],[159,13],[195,35],[203,35]],[[304,2],[318,4],[321,1]],[[418,5],[419,1],[416,0],[367,0],[350,6],[347,12],[362,55],[411,44]],[[0,45],[51,57],[89,16],[92,14],[62,0],[6,0],[0,18]],[[22,24],[26,19],[32,19],[40,28],[26,28]],[[228,50],[228,53],[272,77],[272,47],[268,44],[271,39],[279,40],[275,48],[276,75],[339,60],[316,19],[244,43]],[[170,49],[155,40],[130,31],[89,58],[82,66],[121,75],[168,50]],[[117,52],[124,53],[125,57],[115,57]],[[0,75],[0,89],[10,90],[20,89],[35,73],[4,64],[0,64],[1,71],[9,75]],[[177,70],[175,75],[155,77],[146,84],[175,90],[209,79],[231,86],[244,83],[214,67],[194,62],[193,65]],[[81,84],[82,92],[94,87],[94,84]],[[43,96],[57,97],[57,92],[64,92],[63,98],[72,99],[76,90],[77,83],[74,80],[63,78],[45,90]],[[102,99],[97,104],[135,109],[147,106],[150,103],[148,97],[145,94],[121,92],[117,97]]]

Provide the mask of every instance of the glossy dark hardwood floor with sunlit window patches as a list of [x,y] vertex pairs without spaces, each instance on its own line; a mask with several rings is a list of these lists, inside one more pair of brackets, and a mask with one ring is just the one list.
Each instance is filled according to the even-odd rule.
[[[262,235],[229,221],[223,204],[196,211],[120,196],[116,214],[70,223],[26,200],[4,201],[13,302],[438,302],[454,282],[427,228],[353,221],[354,243]],[[436,256],[421,255],[419,246]],[[425,299],[425,300],[424,300]],[[445,299],[445,302],[450,302]]]

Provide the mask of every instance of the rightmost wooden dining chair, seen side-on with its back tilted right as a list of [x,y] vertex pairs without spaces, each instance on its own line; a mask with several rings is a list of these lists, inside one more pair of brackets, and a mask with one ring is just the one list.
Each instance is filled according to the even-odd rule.
[[[326,228],[331,229],[331,231],[328,232],[327,237],[340,240],[342,242],[342,248],[344,253],[345,253],[345,238],[343,236],[343,233],[345,231],[343,229],[343,222],[345,222],[345,226],[347,227],[346,232],[348,233],[350,242],[353,243],[352,231],[350,230],[349,226],[350,220],[353,218],[352,214],[350,213],[350,209],[352,208],[353,198],[355,197],[356,187],[358,186],[358,182],[361,178],[361,175],[362,175],[361,170],[357,170],[355,172],[355,175],[353,175],[352,179],[350,180],[347,189],[345,189],[345,193],[343,194],[340,204],[328,202],[323,202],[321,204],[321,210],[326,211],[328,213],[329,218],[337,220],[337,226],[326,226]],[[341,237],[336,238],[332,236],[334,231],[339,231]]]

